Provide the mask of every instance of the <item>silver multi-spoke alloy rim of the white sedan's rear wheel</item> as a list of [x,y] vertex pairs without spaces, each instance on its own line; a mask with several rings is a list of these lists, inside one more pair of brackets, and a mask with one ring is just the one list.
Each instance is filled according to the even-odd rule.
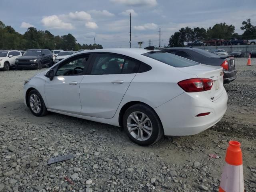
[[153,127],[150,118],[142,112],[132,112],[127,119],[127,128],[136,140],[145,141],[152,135]]

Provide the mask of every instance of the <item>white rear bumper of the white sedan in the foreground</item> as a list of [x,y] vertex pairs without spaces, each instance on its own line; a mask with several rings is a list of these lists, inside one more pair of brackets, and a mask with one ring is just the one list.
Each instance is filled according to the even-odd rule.
[[[162,122],[165,135],[186,136],[198,134],[220,121],[226,112],[227,102],[225,89],[214,101],[202,94],[184,92],[154,110]],[[196,117],[205,112],[210,114]]]

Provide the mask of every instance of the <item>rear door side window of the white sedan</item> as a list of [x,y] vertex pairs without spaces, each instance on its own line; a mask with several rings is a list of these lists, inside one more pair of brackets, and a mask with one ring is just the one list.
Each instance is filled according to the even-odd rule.
[[117,54],[97,54],[92,75],[137,73],[140,62]]

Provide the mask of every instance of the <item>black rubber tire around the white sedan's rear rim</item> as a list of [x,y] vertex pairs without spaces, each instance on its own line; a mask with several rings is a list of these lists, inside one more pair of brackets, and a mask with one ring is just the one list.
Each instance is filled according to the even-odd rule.
[[[151,132],[151,135],[147,138],[147,140],[143,140],[143,141],[137,140],[130,134],[130,132],[128,130],[128,126],[127,126],[127,120],[128,120],[128,117],[130,116],[130,114],[132,114],[133,112],[142,112],[146,116],[148,116],[148,118],[150,119],[150,122],[152,123],[152,125],[151,125],[152,132]],[[148,125],[145,124],[145,126],[148,126]],[[162,123],[161,123],[158,115],[152,108],[150,108],[149,106],[147,106],[145,104],[135,104],[126,110],[126,112],[124,113],[124,116],[123,116],[123,127],[124,127],[124,130],[125,130],[126,134],[128,135],[128,137],[134,143],[141,145],[141,146],[152,145],[155,142],[157,142],[160,138],[162,138],[162,136],[164,135]],[[140,131],[140,129],[142,129],[142,128],[136,128],[134,130],[134,134],[136,135],[136,132],[138,133],[138,131]],[[142,130],[142,132],[144,132],[144,130]],[[144,133],[146,133],[146,132],[144,132]],[[148,134],[146,134],[146,135],[148,136]]]

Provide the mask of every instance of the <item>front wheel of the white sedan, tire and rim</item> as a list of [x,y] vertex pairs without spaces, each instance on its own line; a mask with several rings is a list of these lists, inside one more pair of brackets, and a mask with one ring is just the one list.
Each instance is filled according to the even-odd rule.
[[37,90],[32,90],[28,94],[29,109],[35,116],[44,116],[47,114],[47,109],[44,100]]

